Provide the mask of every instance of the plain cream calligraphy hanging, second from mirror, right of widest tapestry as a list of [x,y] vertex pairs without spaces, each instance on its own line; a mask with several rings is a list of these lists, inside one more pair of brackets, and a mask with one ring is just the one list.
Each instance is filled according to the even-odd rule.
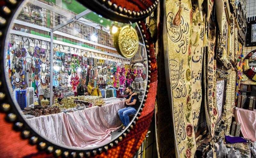
[[[191,56],[192,56],[192,72],[191,72],[191,89],[193,90],[191,93],[191,104],[193,109],[193,123],[194,130],[196,130],[196,126],[199,119],[199,112],[202,102],[202,62],[203,62],[203,40],[204,40],[204,20],[199,12],[198,5],[195,5],[196,9],[193,13],[192,20],[192,46],[191,46]],[[201,11],[202,12],[202,11]]]

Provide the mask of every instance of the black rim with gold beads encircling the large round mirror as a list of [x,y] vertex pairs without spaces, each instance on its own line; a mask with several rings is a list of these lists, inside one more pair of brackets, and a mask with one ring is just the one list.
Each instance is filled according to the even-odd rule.
[[[85,1],[78,0],[82,4]],[[118,142],[121,142],[123,139],[125,139],[126,135],[134,129],[136,125],[136,121],[139,119],[139,116],[141,115],[141,112],[143,110],[143,107],[145,106],[146,99],[147,99],[147,94],[148,94],[148,89],[150,88],[149,83],[150,80],[150,55],[149,55],[149,46],[147,45],[147,40],[146,35],[144,34],[144,31],[142,30],[142,26],[139,23],[139,28],[140,28],[140,33],[143,36],[143,42],[146,44],[146,51],[147,51],[147,56],[148,56],[148,67],[147,67],[147,72],[148,75],[146,76],[147,80],[147,88],[145,91],[145,95],[143,96],[143,102],[139,107],[139,110],[135,114],[135,116],[132,118],[130,124],[120,133],[118,137],[116,137],[113,141],[94,148],[94,149],[89,149],[89,150],[78,150],[78,149],[73,149],[73,148],[68,148],[65,146],[60,146],[57,144],[54,144],[44,137],[40,136],[37,134],[37,132],[32,129],[28,123],[24,120],[22,115],[20,115],[18,109],[15,106],[15,103],[12,100],[12,97],[10,95],[10,92],[8,91],[8,80],[5,75],[5,69],[4,69],[4,60],[5,60],[5,40],[8,35],[8,29],[11,26],[12,18],[15,17],[17,14],[16,11],[19,11],[20,5],[23,3],[26,3],[26,0],[4,0],[4,6],[1,6],[0,9],[0,49],[1,49],[1,54],[0,54],[0,111],[6,114],[5,121],[13,123],[13,129],[16,131],[20,131],[21,137],[24,139],[29,139],[29,143],[31,145],[36,145],[38,150],[44,150],[46,153],[52,153],[54,156],[63,156],[63,157],[91,157],[95,156],[97,154],[101,154],[102,152],[108,151],[108,149],[112,148],[113,146],[117,146]],[[91,1],[90,1],[91,2]],[[97,4],[99,5],[99,4]],[[95,11],[97,12],[97,11]],[[148,14],[145,14],[145,16]],[[140,17],[140,19],[144,18]],[[119,22],[124,22],[122,16],[118,17],[117,21]],[[133,19],[136,20],[136,19]],[[137,24],[138,26],[138,24]],[[141,31],[142,30],[142,31]]]

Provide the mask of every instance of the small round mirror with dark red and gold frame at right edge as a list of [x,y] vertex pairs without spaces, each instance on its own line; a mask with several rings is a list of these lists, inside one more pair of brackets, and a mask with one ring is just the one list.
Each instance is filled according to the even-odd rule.
[[256,70],[255,70],[255,60],[256,60],[256,54],[254,54],[256,50],[251,51],[249,54],[246,55],[244,58],[244,74],[252,79],[253,81],[256,81]]

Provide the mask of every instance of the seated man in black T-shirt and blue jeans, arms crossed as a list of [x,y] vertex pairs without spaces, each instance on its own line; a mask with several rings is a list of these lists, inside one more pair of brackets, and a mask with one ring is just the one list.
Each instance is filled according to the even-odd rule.
[[136,114],[138,108],[140,107],[140,100],[138,98],[139,95],[137,93],[133,93],[132,90],[133,89],[130,86],[126,88],[126,93],[129,94],[125,100],[126,106],[125,108],[118,110],[118,115],[124,125],[123,129],[118,130],[118,132],[123,131],[125,127],[128,126],[130,123],[129,115]]

